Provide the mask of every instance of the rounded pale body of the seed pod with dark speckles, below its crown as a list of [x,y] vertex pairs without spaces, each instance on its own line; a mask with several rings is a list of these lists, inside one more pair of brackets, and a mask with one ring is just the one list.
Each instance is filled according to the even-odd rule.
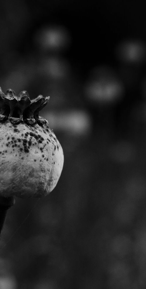
[[63,167],[63,151],[48,122],[40,126],[0,122],[0,195],[48,195]]

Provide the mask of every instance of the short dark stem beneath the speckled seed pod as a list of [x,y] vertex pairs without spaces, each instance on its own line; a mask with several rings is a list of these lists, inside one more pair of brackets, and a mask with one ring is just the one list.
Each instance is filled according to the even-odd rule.
[[0,196],[0,235],[6,219],[7,210],[15,204],[15,198]]

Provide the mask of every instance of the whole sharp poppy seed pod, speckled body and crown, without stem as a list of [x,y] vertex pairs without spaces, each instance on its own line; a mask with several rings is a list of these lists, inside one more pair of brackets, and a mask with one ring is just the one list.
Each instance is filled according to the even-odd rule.
[[64,157],[48,121],[39,116],[48,100],[0,88],[0,196],[41,197],[56,186]]

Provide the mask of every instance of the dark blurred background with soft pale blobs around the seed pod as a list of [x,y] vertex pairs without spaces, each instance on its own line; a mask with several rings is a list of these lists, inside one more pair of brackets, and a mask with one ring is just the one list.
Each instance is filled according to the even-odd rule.
[[144,7],[1,1],[0,86],[50,95],[65,156],[49,196],[8,211],[0,289],[145,288]]

